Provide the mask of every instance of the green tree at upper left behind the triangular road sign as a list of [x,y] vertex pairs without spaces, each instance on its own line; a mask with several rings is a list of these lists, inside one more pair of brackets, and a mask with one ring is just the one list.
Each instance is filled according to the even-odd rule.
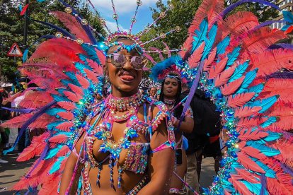
[[[13,61],[12,57],[7,57],[6,54],[8,49],[11,47],[13,42],[17,42],[21,47],[21,50],[24,51],[25,47],[33,45],[33,43],[38,40],[42,35],[54,35],[56,30],[42,25],[40,23],[33,22],[30,18],[36,20],[42,20],[48,23],[53,23],[55,25],[61,26],[64,28],[62,23],[50,16],[50,11],[64,11],[64,6],[59,3],[59,1],[45,1],[43,3],[37,3],[32,1],[28,12],[29,12],[29,24],[28,24],[28,42],[26,46],[23,45],[23,25],[24,17],[20,16],[20,10],[18,9],[19,4],[17,1],[4,0],[0,5],[0,75],[1,81],[16,81],[16,78],[19,78],[17,71],[17,64]],[[77,11],[81,12],[81,16],[88,20],[93,28],[96,28],[97,31],[102,31],[102,25],[97,17],[91,13],[88,4],[81,3],[81,1],[70,1],[73,2],[71,6],[74,6]],[[25,6],[21,4],[21,6]],[[30,54],[34,52],[35,48],[38,45],[30,48]],[[21,61],[21,58],[17,58],[17,61]]]

